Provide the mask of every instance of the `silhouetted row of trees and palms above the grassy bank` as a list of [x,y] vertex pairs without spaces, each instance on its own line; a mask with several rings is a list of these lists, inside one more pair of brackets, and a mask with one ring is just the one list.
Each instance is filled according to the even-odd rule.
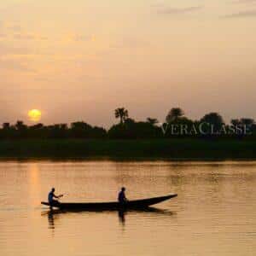
[[[115,138],[115,139],[136,139],[136,138],[161,138],[161,137],[244,137],[243,132],[212,134],[210,131],[225,131],[235,127],[247,127],[247,131],[256,134],[256,124],[254,119],[241,118],[231,119],[230,124],[225,124],[223,117],[219,113],[207,113],[199,120],[192,120],[185,116],[183,109],[172,108],[166,115],[166,120],[161,124],[158,119],[148,117],[145,121],[131,119],[129,112],[125,108],[114,110],[114,116],[119,119],[119,123],[112,125],[110,129],[89,125],[84,121],[55,125],[26,125],[23,121],[17,121],[15,125],[3,123],[0,129],[0,138]],[[202,124],[205,125],[202,132]],[[171,128],[172,129],[171,129]],[[183,131],[178,132],[182,127]],[[238,129],[237,128],[237,129]],[[174,132],[174,130],[177,131]],[[228,130],[227,130],[228,131]],[[229,130],[231,131],[231,130]],[[238,131],[238,130],[237,130]],[[239,131],[242,131],[241,129]]]

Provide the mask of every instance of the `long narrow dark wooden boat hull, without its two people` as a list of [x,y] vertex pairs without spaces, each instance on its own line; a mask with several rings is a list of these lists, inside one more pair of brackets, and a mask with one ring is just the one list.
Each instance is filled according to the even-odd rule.
[[117,201],[112,202],[88,202],[88,203],[82,203],[82,202],[59,202],[50,205],[49,202],[42,201],[41,204],[44,206],[49,207],[56,207],[61,210],[84,210],[84,211],[113,211],[113,210],[120,210],[120,209],[142,209],[146,207],[153,206],[155,204],[158,204],[162,201],[166,201],[168,199],[171,199],[173,197],[176,197],[177,194],[172,195],[165,195],[165,196],[159,196],[159,197],[153,197],[153,198],[147,198],[147,199],[141,199],[141,200],[133,200],[133,201],[127,201],[125,204],[120,204]]

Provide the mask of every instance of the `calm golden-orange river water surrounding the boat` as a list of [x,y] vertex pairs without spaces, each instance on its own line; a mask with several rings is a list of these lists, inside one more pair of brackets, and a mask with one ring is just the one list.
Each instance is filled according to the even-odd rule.
[[[62,201],[177,193],[151,212],[55,212]],[[255,255],[256,162],[1,161],[0,254]]]

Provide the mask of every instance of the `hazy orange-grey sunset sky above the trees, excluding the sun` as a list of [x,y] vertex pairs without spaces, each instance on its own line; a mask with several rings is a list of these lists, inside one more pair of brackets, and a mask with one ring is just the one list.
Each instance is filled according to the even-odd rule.
[[1,0],[0,123],[256,119],[255,31],[256,0]]

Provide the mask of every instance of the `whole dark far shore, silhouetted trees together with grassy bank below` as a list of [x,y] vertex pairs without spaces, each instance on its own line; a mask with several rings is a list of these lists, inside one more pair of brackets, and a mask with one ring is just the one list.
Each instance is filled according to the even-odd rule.
[[[218,113],[199,120],[172,108],[166,122],[135,121],[125,108],[114,112],[119,124],[108,130],[85,122],[71,125],[15,125],[0,129],[0,157],[143,157],[168,159],[256,159],[253,119],[225,124]],[[231,132],[230,132],[231,131]]]

